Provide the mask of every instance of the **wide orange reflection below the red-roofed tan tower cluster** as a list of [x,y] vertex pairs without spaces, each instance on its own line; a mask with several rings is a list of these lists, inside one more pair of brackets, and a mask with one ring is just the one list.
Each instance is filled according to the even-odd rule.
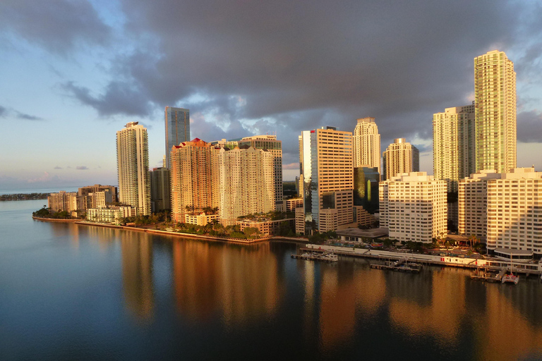
[[284,293],[278,274],[277,259],[270,257],[269,243],[173,243],[177,309],[193,321],[219,315],[229,325],[270,316]]

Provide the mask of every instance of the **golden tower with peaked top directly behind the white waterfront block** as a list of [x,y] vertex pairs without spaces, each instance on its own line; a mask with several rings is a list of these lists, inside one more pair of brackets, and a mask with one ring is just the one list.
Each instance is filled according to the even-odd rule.
[[420,171],[420,152],[404,138],[395,139],[382,156],[383,179],[390,179],[401,173]]

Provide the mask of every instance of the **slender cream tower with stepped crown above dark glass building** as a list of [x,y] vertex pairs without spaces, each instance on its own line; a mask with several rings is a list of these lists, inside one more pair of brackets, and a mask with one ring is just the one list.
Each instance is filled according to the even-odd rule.
[[353,140],[354,168],[376,167],[380,174],[380,134],[375,118],[358,119]]

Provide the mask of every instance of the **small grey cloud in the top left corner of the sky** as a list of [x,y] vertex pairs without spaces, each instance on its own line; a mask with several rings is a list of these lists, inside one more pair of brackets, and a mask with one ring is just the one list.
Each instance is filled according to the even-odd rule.
[[82,41],[104,44],[111,34],[87,1],[2,0],[0,30],[66,54]]

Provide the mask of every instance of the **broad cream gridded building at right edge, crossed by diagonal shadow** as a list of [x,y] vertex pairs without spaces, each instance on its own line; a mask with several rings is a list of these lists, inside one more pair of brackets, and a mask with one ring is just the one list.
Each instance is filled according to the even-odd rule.
[[541,204],[542,172],[534,168],[473,174],[459,183],[459,232],[485,239],[490,252],[509,248],[540,256]]

